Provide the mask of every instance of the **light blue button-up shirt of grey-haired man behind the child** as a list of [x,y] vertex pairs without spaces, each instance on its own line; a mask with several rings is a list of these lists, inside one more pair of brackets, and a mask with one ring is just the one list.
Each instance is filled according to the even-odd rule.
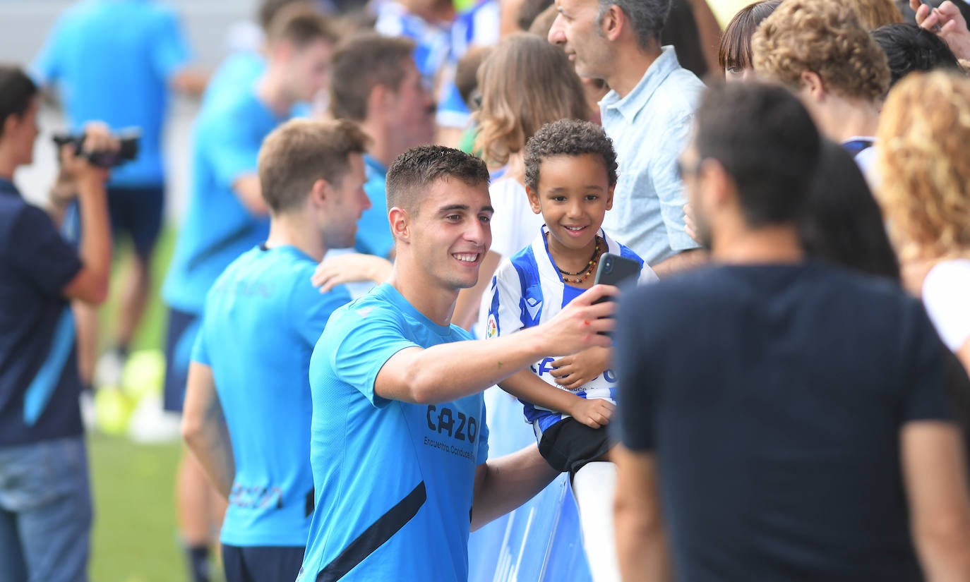
[[694,73],[681,68],[673,47],[663,47],[629,95],[610,91],[599,102],[620,163],[603,230],[649,265],[697,247],[684,232],[687,196],[677,157],[687,146],[703,90]]

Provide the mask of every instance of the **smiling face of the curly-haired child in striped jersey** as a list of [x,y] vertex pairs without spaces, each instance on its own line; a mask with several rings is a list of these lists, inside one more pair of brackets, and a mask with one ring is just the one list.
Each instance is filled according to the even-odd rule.
[[602,156],[550,156],[542,159],[538,174],[538,187],[528,188],[529,202],[533,212],[541,212],[552,239],[564,250],[592,248],[606,210],[613,207]]

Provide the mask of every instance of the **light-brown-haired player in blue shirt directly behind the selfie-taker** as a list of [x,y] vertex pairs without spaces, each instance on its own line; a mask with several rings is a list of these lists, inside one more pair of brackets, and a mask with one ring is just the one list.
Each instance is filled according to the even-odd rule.
[[313,508],[310,354],[336,307],[310,277],[328,248],[353,242],[370,206],[367,137],[350,121],[294,119],[259,155],[270,236],[219,276],[206,301],[185,398],[183,433],[229,501],[227,582],[292,582]]

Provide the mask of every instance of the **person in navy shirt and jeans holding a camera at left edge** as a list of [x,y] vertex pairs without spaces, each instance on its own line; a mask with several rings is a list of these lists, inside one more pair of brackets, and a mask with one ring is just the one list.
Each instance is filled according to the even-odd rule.
[[87,156],[117,142],[89,124],[80,152],[61,148],[81,206],[75,250],[13,181],[33,161],[39,107],[34,82],[0,66],[0,581],[78,582],[87,580],[91,497],[70,302],[108,296],[108,171]]

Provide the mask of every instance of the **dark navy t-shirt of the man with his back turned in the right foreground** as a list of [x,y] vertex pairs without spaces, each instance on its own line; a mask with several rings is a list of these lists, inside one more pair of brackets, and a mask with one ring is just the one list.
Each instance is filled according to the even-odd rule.
[[890,282],[722,266],[617,316],[620,435],[657,454],[679,580],[919,580],[899,437],[948,420],[941,348]]

